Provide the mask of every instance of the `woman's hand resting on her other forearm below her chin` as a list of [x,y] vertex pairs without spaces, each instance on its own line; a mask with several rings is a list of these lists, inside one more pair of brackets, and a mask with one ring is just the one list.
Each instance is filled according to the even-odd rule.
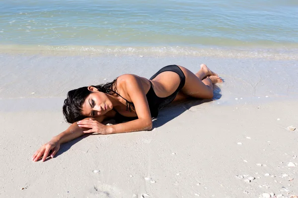
[[79,127],[89,128],[87,131],[83,131],[83,133],[99,133],[102,135],[111,134],[111,130],[108,126],[97,122],[96,120],[81,120],[77,122]]

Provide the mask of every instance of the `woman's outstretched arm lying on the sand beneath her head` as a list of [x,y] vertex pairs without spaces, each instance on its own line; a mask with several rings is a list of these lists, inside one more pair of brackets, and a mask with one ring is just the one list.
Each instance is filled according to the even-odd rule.
[[[94,118],[85,118],[84,120],[96,120],[97,122],[102,122],[106,117],[105,116],[100,116],[100,117],[94,117]],[[50,140],[48,143],[44,144],[41,146],[32,156],[33,161],[37,161],[42,157],[42,161],[44,161],[49,153],[51,152],[51,157],[53,158],[55,154],[58,152],[60,145],[70,142],[74,140],[75,138],[78,138],[82,135],[84,129],[77,126],[76,123],[73,123],[67,130],[62,132],[61,134],[54,136],[52,140]]]

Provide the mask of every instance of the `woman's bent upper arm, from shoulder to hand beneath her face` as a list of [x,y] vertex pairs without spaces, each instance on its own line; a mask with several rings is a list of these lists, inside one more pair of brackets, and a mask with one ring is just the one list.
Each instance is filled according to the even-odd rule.
[[80,121],[78,122],[79,127],[89,128],[84,133],[114,134],[150,130],[152,128],[148,100],[140,78],[135,75],[125,74],[118,77],[117,83],[134,103],[138,119],[110,126],[105,126],[92,120]]

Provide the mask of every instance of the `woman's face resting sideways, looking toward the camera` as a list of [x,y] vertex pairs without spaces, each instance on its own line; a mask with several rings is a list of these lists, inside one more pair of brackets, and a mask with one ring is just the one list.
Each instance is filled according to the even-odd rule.
[[97,117],[104,115],[113,108],[111,100],[103,92],[99,92],[94,87],[88,87],[92,91],[82,105],[82,115],[86,117]]

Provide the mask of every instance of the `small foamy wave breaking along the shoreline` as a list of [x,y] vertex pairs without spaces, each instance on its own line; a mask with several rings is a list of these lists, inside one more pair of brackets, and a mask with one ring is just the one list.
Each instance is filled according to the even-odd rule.
[[1,45],[2,53],[43,55],[139,55],[139,56],[201,56],[223,58],[266,58],[298,60],[298,49],[240,49],[215,47],[123,47],[123,46],[20,46]]

